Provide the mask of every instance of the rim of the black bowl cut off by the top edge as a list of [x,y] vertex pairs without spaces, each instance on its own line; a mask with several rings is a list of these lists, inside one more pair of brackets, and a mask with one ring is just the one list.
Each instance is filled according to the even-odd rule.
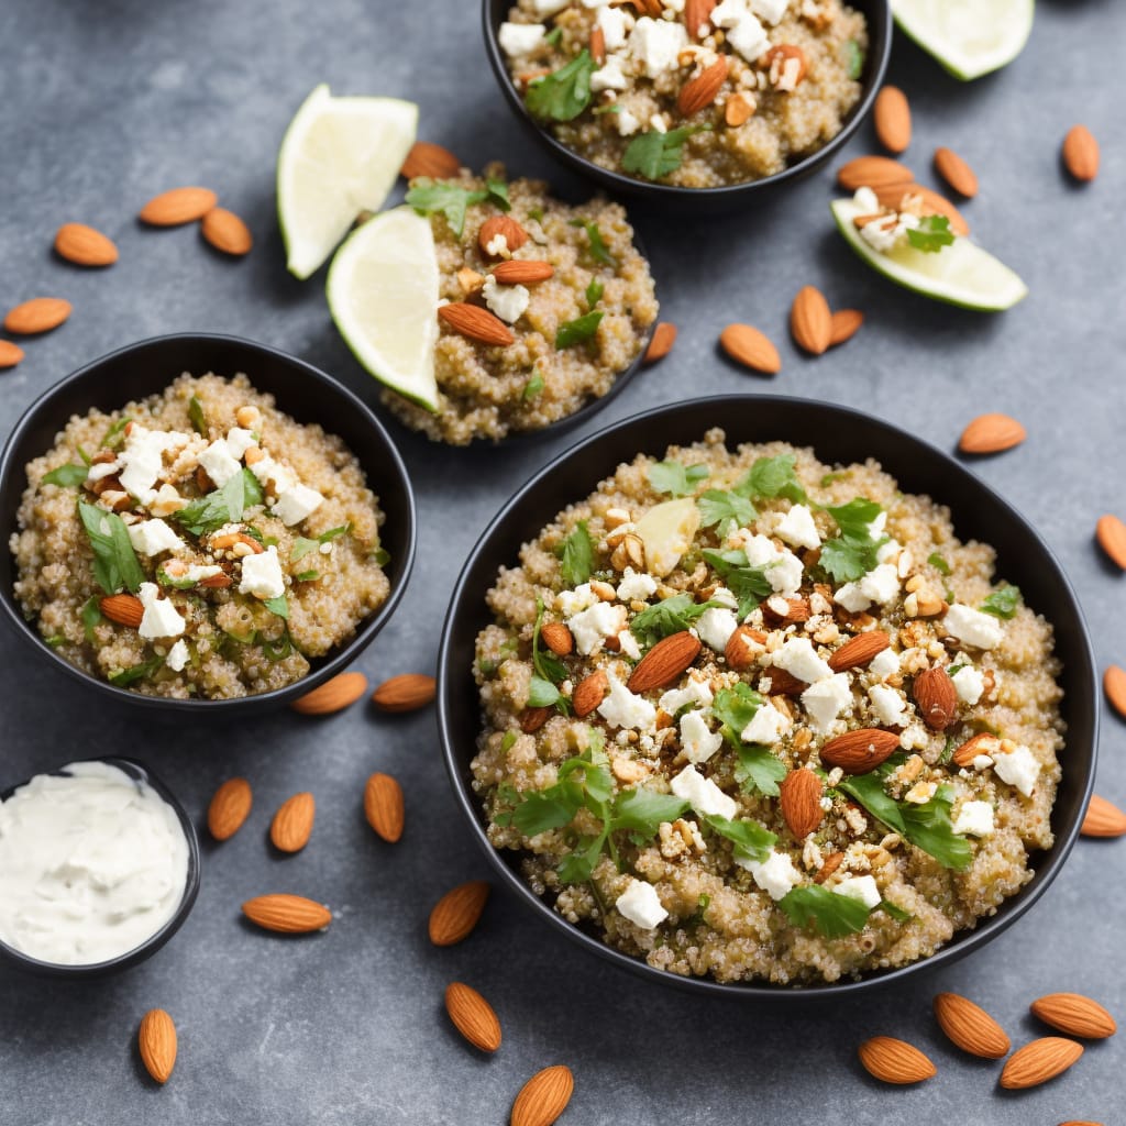
[[482,2],[482,27],[484,29],[485,54],[489,56],[489,63],[492,66],[493,74],[501,88],[504,100],[509,104],[512,111],[518,118],[525,122],[526,125],[536,131],[544,144],[547,145],[556,158],[575,169],[582,176],[593,179],[605,187],[614,189],[615,191],[619,191],[625,195],[647,197],[650,199],[664,199],[667,202],[700,199],[707,203],[722,204],[724,200],[732,200],[744,193],[753,191],[756,188],[765,190],[767,188],[775,188],[780,185],[788,184],[793,180],[802,179],[806,173],[812,172],[820,164],[829,160],[833,153],[839,151],[860,127],[864,119],[868,116],[873,102],[876,100],[876,95],[879,92],[879,88],[884,82],[884,77],[887,73],[887,63],[892,55],[893,20],[890,0],[873,0],[874,3],[879,5],[884,9],[884,21],[881,29],[882,34],[878,43],[869,43],[868,56],[873,60],[870,79],[863,97],[850,110],[849,119],[843,126],[841,126],[840,133],[826,141],[815,152],[811,152],[808,155],[803,157],[796,164],[790,164],[787,168],[784,168],[780,172],[775,172],[774,176],[766,176],[759,180],[745,180],[742,184],[727,184],[718,188],[686,188],[673,184],[635,180],[633,177],[625,176],[622,172],[616,172],[609,168],[602,168],[601,164],[596,164],[586,157],[580,157],[579,153],[574,152],[574,150],[568,149],[566,145],[552,136],[552,134],[528,113],[527,106],[525,106],[524,100],[516,92],[516,87],[512,84],[512,80],[509,77],[508,68],[504,64],[504,55],[500,50],[500,43],[497,39],[497,28],[493,26],[491,9],[495,2],[497,0],[483,0]]

